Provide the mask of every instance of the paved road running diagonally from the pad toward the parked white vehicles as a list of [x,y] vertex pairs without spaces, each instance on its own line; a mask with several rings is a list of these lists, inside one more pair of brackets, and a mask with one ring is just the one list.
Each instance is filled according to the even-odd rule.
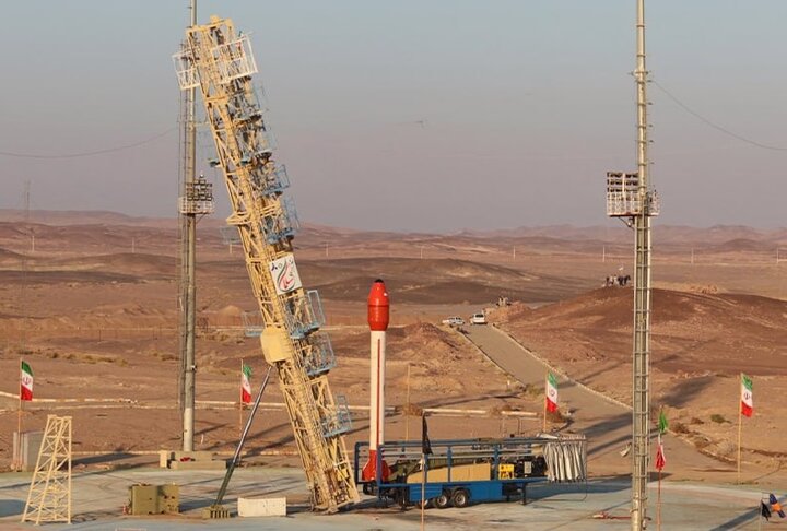
[[[543,387],[547,366],[505,332],[492,326],[465,330],[467,338],[503,370],[522,384]],[[566,429],[584,433],[588,438],[588,472],[595,475],[631,473],[631,455],[620,455],[631,440],[631,410],[565,379],[560,380],[559,392],[561,406],[572,413]],[[655,455],[655,449],[651,453]],[[697,477],[697,473],[718,471],[724,474],[723,481],[733,480],[728,476],[735,472],[732,468],[674,437],[666,437],[665,453],[666,472],[672,479],[692,479]]]

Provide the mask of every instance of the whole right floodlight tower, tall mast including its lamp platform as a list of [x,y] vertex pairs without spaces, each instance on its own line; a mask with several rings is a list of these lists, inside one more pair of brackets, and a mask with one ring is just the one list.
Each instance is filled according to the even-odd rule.
[[633,531],[647,522],[650,406],[650,216],[659,201],[648,169],[647,78],[645,69],[645,0],[636,4],[637,172],[607,173],[607,215],[634,228],[634,346],[632,363],[632,510]]

